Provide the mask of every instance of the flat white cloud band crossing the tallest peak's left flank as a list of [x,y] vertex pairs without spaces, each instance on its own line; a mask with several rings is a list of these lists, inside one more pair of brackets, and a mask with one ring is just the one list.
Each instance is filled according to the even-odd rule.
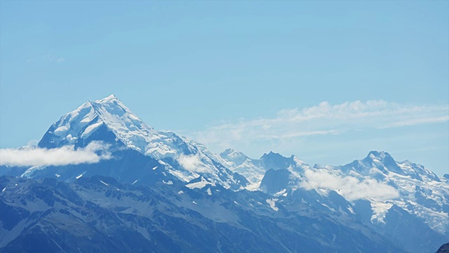
[[73,145],[61,148],[0,149],[0,165],[8,166],[45,166],[96,163],[112,158],[109,145],[100,142],[89,143],[86,148],[74,149]]

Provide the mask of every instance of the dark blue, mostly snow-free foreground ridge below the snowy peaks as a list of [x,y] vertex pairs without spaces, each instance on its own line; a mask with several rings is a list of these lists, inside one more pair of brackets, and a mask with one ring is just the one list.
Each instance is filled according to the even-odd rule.
[[404,252],[299,191],[273,198],[207,179],[125,186],[102,176],[1,176],[0,188],[0,252]]

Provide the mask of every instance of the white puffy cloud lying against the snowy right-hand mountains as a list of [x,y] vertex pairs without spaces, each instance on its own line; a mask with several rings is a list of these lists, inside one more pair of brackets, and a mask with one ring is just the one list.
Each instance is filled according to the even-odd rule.
[[349,201],[359,199],[391,200],[399,197],[398,190],[374,179],[360,181],[353,176],[337,176],[321,169],[307,170],[304,176],[300,187],[307,190],[335,190]]

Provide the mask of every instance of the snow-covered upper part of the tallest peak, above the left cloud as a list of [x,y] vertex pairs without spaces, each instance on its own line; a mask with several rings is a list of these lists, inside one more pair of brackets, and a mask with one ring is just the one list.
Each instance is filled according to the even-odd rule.
[[91,141],[110,142],[114,144],[114,148],[121,146],[152,157],[182,181],[207,174],[210,180],[224,187],[239,189],[241,184],[245,184],[245,180],[237,179],[239,176],[234,176],[232,171],[207,153],[201,144],[170,131],[156,131],[114,95],[88,101],[62,116],[48,129],[39,146],[82,147]]

